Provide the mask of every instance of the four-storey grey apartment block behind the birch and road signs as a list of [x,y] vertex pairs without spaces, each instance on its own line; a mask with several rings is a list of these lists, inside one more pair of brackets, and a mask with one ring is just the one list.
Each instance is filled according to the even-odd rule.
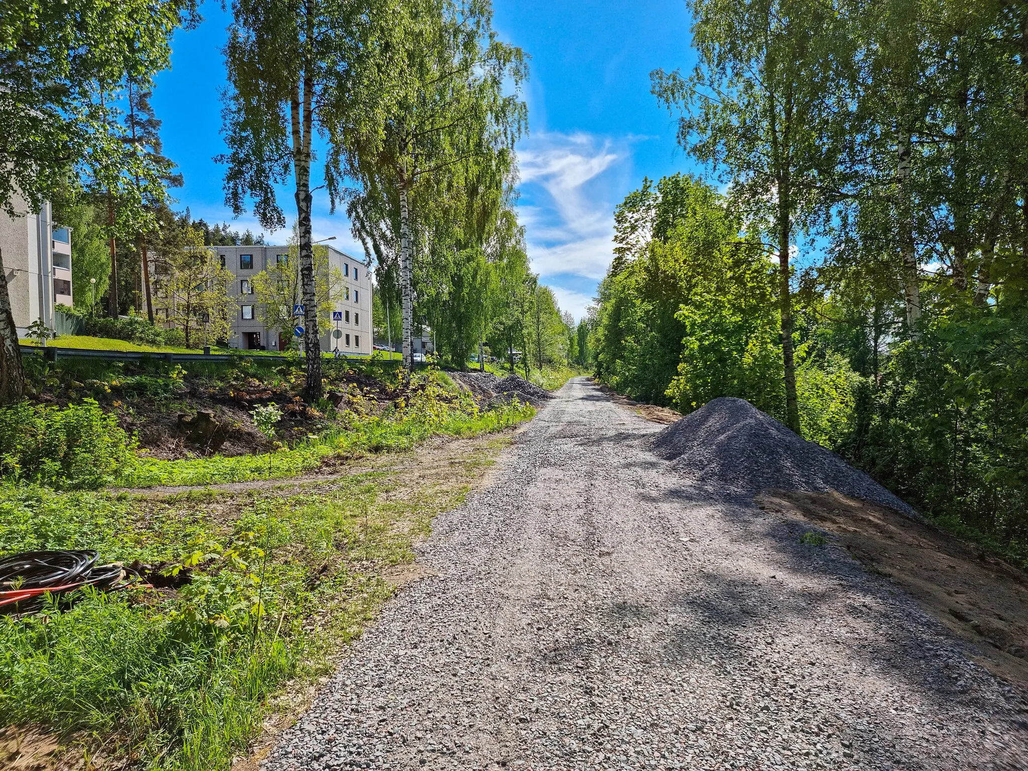
[[[367,265],[356,257],[351,257],[333,247],[320,244],[328,249],[329,266],[338,269],[342,285],[336,291],[332,309],[332,321],[321,331],[321,345],[324,352],[339,351],[350,356],[371,354],[371,276]],[[217,250],[221,264],[234,277],[228,295],[233,300],[229,314],[232,330],[229,336],[231,347],[248,351],[283,351],[290,339],[279,330],[265,329],[260,321],[261,313],[254,294],[253,278],[266,267],[295,261],[290,257],[289,247],[212,247]],[[299,269],[296,266],[295,269]],[[297,302],[300,300],[297,299]],[[302,315],[296,325],[302,326]],[[338,332],[338,334],[336,334]]]

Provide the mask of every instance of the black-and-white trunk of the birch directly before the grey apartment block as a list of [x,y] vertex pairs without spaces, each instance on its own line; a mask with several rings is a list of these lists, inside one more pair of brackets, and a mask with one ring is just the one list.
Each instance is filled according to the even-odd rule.
[[300,83],[293,84],[290,105],[293,140],[293,175],[296,179],[296,219],[299,230],[300,298],[303,302],[303,348],[306,365],[304,396],[307,402],[322,398],[321,336],[318,330],[318,296],[315,291],[314,243],[310,235],[310,130],[314,83],[304,68],[302,101]]

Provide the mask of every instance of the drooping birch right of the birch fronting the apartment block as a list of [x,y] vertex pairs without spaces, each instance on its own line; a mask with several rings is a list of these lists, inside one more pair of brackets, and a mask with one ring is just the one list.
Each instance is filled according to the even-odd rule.
[[[488,0],[410,0],[382,135],[352,133],[352,176],[362,193],[347,209],[355,232],[379,258],[396,259],[403,307],[403,361],[413,365],[414,252],[427,244],[440,203],[469,180],[502,190],[525,123],[517,96],[520,48],[491,29]],[[514,94],[506,94],[510,84]],[[464,177],[462,180],[462,175]],[[446,207],[442,207],[445,209]]]

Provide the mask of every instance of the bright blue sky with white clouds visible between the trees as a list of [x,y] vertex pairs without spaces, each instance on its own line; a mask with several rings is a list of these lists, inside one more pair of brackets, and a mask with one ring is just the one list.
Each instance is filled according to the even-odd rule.
[[[494,26],[531,58],[525,87],[529,133],[518,146],[518,216],[528,254],[563,309],[581,318],[612,256],[614,207],[644,176],[693,168],[674,140],[675,119],[650,94],[656,67],[690,69],[684,0],[494,0]],[[231,219],[222,193],[220,136],[228,16],[204,3],[198,29],[175,37],[172,69],[157,78],[153,105],[163,120],[166,154],[185,177],[179,208],[233,228],[261,228],[252,216]],[[291,196],[283,197],[290,217]],[[317,201],[315,237],[361,254],[340,214]],[[268,234],[285,241],[288,233]]]

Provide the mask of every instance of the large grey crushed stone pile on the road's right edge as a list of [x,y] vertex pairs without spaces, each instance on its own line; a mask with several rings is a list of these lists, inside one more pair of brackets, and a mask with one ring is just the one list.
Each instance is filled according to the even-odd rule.
[[719,495],[751,500],[765,489],[837,490],[915,515],[862,471],[797,436],[744,399],[722,397],[656,434],[650,448]]

